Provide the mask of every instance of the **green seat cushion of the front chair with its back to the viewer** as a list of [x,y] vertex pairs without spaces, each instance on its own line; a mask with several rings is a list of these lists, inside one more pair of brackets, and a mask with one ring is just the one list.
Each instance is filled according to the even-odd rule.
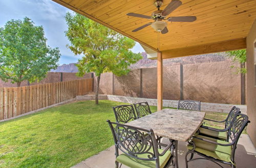
[[[163,151],[163,149],[158,149],[159,153],[161,153]],[[151,148],[151,150],[149,152],[153,153],[153,148]],[[148,158],[147,157],[148,154],[139,154],[138,157],[140,158]],[[164,167],[168,161],[168,159],[170,158],[172,154],[170,153],[170,151],[168,150],[163,156],[159,156],[159,163],[160,163],[160,167]],[[129,167],[156,167],[156,161],[151,161],[151,160],[141,160],[141,159],[136,159],[132,156],[126,155],[126,154],[120,154],[117,158],[116,161],[118,161],[119,163],[122,163],[126,166]]]

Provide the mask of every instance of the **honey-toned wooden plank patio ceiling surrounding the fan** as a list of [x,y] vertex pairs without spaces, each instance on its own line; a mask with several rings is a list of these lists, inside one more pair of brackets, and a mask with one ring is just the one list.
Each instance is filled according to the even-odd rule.
[[[151,19],[126,16],[126,13],[139,13],[151,16],[156,11],[154,0],[53,0],[62,6],[70,8],[87,16],[111,29],[130,37],[147,48],[157,50],[157,33],[151,26],[138,32],[132,32],[137,27],[152,22]],[[222,44],[230,50],[245,48],[245,38],[256,18],[255,0],[181,0],[182,5],[170,16],[196,16],[194,22],[168,22],[167,34],[160,34],[159,50],[166,53],[163,58],[188,55],[180,53],[172,56],[172,51],[184,50],[203,46],[205,49],[195,52],[207,53],[211,44]],[[163,0],[164,9],[170,0]],[[238,42],[236,43],[236,40]],[[228,42],[231,41],[231,47]],[[241,42],[242,41],[242,42]],[[227,43],[225,43],[227,42]],[[218,45],[216,45],[218,46]],[[194,48],[194,49],[193,49]],[[210,51],[211,52],[211,51]],[[167,54],[168,53],[168,54]]]

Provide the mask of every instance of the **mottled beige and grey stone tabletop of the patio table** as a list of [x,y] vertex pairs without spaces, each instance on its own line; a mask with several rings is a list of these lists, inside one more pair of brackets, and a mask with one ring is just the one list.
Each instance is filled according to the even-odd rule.
[[204,116],[204,112],[165,108],[126,125],[153,129],[155,135],[186,142],[198,130]]

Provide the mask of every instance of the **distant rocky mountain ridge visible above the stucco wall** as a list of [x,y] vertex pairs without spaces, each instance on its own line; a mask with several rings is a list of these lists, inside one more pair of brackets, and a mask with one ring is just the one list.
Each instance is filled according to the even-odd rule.
[[[157,60],[147,59],[146,52],[141,53],[143,59],[139,60],[136,64],[131,65],[131,69],[138,68],[148,68],[148,67],[156,67]],[[197,64],[197,63],[210,63],[210,62],[219,62],[228,60],[225,57],[225,53],[210,53],[210,54],[202,54],[202,55],[193,55],[189,57],[179,57],[174,59],[165,59],[163,60],[163,64],[167,65],[175,65],[175,64]],[[77,72],[78,69],[75,66],[76,63],[71,64],[63,64],[58,66],[56,70],[51,70],[51,72]]]

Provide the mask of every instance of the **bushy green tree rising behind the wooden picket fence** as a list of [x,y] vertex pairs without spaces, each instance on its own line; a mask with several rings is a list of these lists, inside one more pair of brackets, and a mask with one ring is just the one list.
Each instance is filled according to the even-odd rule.
[[10,20],[0,28],[0,78],[17,87],[23,80],[34,82],[57,68],[58,48],[47,46],[44,29],[28,17]]

